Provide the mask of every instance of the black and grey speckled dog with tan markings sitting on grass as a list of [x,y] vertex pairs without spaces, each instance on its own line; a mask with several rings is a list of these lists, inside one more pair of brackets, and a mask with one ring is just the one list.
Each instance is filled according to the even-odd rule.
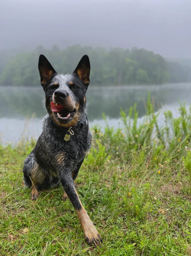
[[63,200],[69,197],[73,204],[86,241],[97,246],[102,242],[101,236],[83,208],[74,184],[91,145],[84,112],[90,83],[89,58],[84,55],[72,75],[62,75],[40,55],[39,72],[48,114],[36,146],[24,161],[24,182],[32,188],[32,200],[39,197],[39,188],[61,182],[65,191]]

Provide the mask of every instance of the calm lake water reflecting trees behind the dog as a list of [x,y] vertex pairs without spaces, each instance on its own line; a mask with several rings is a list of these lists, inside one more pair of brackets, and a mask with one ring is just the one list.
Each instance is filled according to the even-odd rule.
[[[89,87],[87,90],[86,113],[90,127],[99,124],[102,129],[105,113],[109,125],[118,128],[120,109],[126,113],[137,103],[139,120],[145,115],[145,102],[148,92],[154,102],[155,111],[161,109],[159,122],[163,124],[164,110],[171,110],[174,117],[178,116],[178,100],[191,103],[191,83],[153,85],[153,86],[115,86]],[[46,115],[45,96],[39,87],[0,87],[0,138],[1,143],[16,142],[21,137],[30,138],[40,135],[42,118]]]

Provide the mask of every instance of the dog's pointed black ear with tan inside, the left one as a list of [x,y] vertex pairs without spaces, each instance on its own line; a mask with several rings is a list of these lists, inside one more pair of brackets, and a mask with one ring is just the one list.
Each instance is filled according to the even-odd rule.
[[39,56],[39,73],[41,86],[45,90],[45,86],[51,79],[51,76],[53,74],[56,74],[57,72],[53,69],[52,65],[47,60],[47,58],[42,54]]

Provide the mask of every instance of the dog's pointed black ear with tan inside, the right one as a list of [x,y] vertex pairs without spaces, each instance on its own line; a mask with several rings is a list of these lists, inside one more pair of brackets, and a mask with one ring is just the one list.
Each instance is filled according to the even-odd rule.
[[90,60],[88,55],[84,55],[80,62],[78,63],[77,68],[73,73],[76,73],[84,85],[89,86],[90,83]]

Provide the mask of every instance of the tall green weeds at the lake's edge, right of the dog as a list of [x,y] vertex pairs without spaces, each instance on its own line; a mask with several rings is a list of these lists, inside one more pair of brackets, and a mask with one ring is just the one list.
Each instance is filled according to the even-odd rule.
[[148,97],[143,121],[138,121],[135,104],[129,115],[121,111],[123,129],[114,130],[107,125],[102,133],[100,127],[93,127],[93,150],[99,152],[103,145],[106,156],[134,167],[132,177],[147,173],[151,178],[159,169],[161,175],[165,175],[166,170],[174,166],[178,170],[182,168],[182,157],[191,150],[191,107],[186,109],[185,104],[180,103],[178,111],[178,118],[173,118],[171,111],[164,112],[164,125],[160,127],[159,113],[154,113]]

